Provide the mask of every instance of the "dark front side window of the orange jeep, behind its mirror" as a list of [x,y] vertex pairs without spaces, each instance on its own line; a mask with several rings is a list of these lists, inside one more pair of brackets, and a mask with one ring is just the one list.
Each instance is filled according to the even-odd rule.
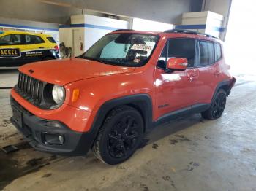
[[195,39],[170,39],[162,50],[157,66],[166,69],[170,58],[187,58],[188,67],[195,63]]

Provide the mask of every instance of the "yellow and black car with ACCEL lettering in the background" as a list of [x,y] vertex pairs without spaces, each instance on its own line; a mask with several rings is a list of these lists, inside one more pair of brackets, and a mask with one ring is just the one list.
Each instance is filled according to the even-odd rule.
[[0,31],[0,67],[59,58],[59,47],[50,35]]

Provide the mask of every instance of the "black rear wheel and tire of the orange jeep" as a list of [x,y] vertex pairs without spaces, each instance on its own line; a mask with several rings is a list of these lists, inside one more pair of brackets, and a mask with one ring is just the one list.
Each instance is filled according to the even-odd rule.
[[207,109],[205,112],[201,113],[202,117],[206,120],[217,120],[219,117],[222,117],[226,101],[227,93],[225,92],[225,90],[218,90],[217,95],[215,95],[210,108]]

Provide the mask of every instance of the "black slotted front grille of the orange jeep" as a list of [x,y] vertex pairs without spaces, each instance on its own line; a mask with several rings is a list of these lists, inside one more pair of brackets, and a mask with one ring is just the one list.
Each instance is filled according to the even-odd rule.
[[39,106],[42,101],[44,82],[20,72],[15,90],[32,104]]

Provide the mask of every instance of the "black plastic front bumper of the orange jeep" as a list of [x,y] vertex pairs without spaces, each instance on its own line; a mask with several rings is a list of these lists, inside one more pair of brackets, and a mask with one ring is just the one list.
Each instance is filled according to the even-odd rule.
[[[49,152],[56,155],[78,156],[86,155],[94,143],[94,138],[97,135],[95,130],[90,130],[88,133],[80,133],[71,130],[62,122],[45,120],[31,114],[23,108],[14,98],[11,97],[12,111],[18,110],[21,114],[20,122],[11,117],[11,122],[15,127],[23,133],[23,136],[29,141],[29,144],[35,149],[42,152]],[[48,125],[48,122],[59,124],[59,127]],[[46,125],[47,124],[47,125]],[[56,135],[62,137],[61,144],[52,144],[45,140],[47,135]]]

